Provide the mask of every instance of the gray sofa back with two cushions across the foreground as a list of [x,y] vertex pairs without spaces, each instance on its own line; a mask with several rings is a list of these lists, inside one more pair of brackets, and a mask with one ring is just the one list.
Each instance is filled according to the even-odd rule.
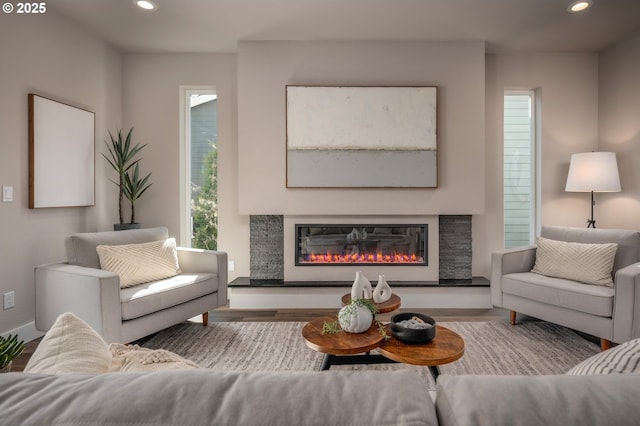
[[638,425],[640,375],[0,374],[0,425]]

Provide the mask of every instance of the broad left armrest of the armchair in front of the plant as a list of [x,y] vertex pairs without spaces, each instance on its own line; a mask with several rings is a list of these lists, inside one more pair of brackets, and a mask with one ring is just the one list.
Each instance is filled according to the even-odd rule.
[[120,278],[102,269],[52,263],[35,268],[36,328],[74,312],[109,341],[120,340]]

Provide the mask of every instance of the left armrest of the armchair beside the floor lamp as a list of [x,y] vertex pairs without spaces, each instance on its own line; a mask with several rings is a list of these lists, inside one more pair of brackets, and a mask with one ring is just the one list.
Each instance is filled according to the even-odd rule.
[[528,272],[536,262],[536,246],[515,247],[491,254],[491,303],[502,307],[502,276]]

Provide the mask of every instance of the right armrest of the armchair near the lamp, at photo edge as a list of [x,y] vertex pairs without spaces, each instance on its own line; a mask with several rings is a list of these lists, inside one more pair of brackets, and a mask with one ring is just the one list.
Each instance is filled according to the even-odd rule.
[[640,337],[640,262],[618,269],[613,280],[613,341]]

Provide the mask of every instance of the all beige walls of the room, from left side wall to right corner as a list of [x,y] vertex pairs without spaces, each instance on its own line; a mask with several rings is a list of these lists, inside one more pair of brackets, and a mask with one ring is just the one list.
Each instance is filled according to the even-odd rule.
[[[599,196],[598,225],[637,229],[639,53],[635,37],[599,62],[596,54],[485,57],[481,43],[417,42],[242,42],[237,57],[123,58],[54,12],[37,19],[0,15],[0,185],[13,186],[15,197],[0,203],[0,293],[16,291],[16,307],[0,310],[0,333],[33,321],[35,265],[64,259],[67,235],[107,230],[117,220],[116,188],[107,180],[112,172],[100,156],[108,129],[133,125],[136,139],[149,144],[143,166],[154,185],[139,201],[138,217],[178,235],[180,85],[218,91],[220,248],[236,260],[231,278],[249,275],[248,214],[399,212],[473,213],[473,273],[488,276],[490,252],[502,246],[505,88],[541,91],[543,223],[585,225],[588,197],[565,193],[564,183],[570,155],[597,148],[619,153],[623,185],[621,194]],[[438,86],[441,187],[287,190],[286,84]],[[96,112],[96,207],[27,208],[31,91]]]

